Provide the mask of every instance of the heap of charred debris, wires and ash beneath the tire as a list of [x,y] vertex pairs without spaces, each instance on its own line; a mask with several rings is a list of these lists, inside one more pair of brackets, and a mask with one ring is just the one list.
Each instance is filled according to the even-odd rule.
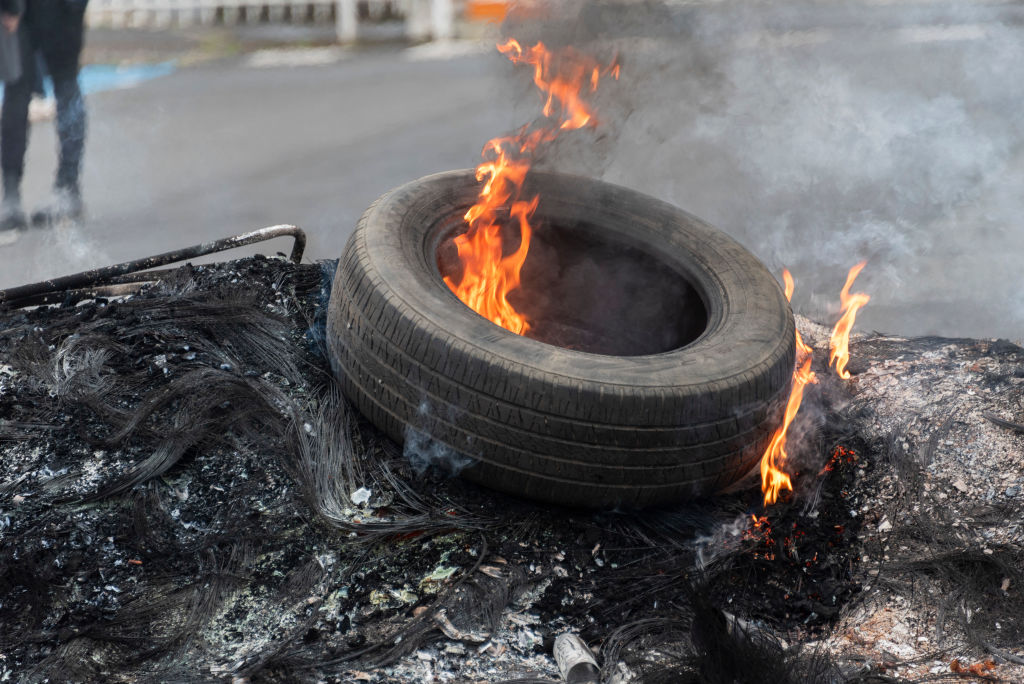
[[552,510],[352,412],[332,272],[0,310],[0,680],[559,681],[565,632],[602,682],[1024,679],[1020,347],[855,342],[768,510]]

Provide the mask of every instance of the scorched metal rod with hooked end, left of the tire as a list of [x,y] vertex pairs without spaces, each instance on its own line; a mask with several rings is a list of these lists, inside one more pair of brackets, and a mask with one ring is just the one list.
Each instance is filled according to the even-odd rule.
[[120,280],[120,276],[128,273],[156,268],[158,266],[166,266],[177,261],[195,259],[208,254],[216,254],[217,252],[232,250],[237,247],[245,247],[246,245],[273,240],[274,238],[286,237],[292,237],[295,239],[295,244],[292,246],[292,254],[289,258],[293,262],[299,263],[302,261],[302,253],[306,249],[306,233],[302,231],[302,228],[294,225],[271,225],[266,228],[260,228],[259,230],[253,230],[252,232],[244,232],[240,236],[233,236],[231,238],[215,240],[201,245],[193,245],[191,247],[185,247],[184,249],[175,250],[173,252],[164,252],[163,254],[157,254],[156,256],[146,257],[144,259],[126,261],[113,266],[93,268],[92,270],[86,270],[72,275],[62,275],[49,281],[43,281],[41,283],[0,290],[0,305],[12,304],[24,299],[38,299],[40,295],[51,292],[93,288]]

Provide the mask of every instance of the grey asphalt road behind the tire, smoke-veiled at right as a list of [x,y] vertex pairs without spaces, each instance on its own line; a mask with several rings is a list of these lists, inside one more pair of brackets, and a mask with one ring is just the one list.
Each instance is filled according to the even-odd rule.
[[[1024,6],[730,7],[605,17],[596,31],[621,29],[624,57],[609,133],[547,164],[726,229],[791,267],[797,308],[817,318],[866,258],[863,328],[1024,337]],[[473,166],[536,106],[485,46],[261,58],[90,95],[88,218],[0,246],[0,287],[275,223],[308,231],[309,258],[337,257],[375,198]],[[30,206],[46,197],[54,146],[52,124],[37,125]]]

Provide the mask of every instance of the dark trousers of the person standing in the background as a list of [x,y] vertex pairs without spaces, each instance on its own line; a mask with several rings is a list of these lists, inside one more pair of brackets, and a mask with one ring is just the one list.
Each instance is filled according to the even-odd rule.
[[79,57],[85,32],[85,3],[29,0],[22,26],[22,78],[4,86],[0,112],[0,170],[4,190],[17,188],[29,143],[29,102],[39,81],[37,53],[53,79],[60,141],[57,188],[78,191],[85,147],[85,100],[78,86]]

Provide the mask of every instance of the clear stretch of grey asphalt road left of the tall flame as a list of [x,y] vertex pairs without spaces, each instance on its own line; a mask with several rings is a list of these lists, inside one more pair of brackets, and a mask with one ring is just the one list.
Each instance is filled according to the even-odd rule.
[[[0,283],[275,223],[305,228],[310,257],[337,257],[377,196],[471,166],[510,125],[489,85],[486,63],[409,62],[387,51],[291,69],[232,59],[97,93],[88,100],[88,219],[0,248]],[[30,206],[47,198],[55,144],[51,124],[34,128]]]

